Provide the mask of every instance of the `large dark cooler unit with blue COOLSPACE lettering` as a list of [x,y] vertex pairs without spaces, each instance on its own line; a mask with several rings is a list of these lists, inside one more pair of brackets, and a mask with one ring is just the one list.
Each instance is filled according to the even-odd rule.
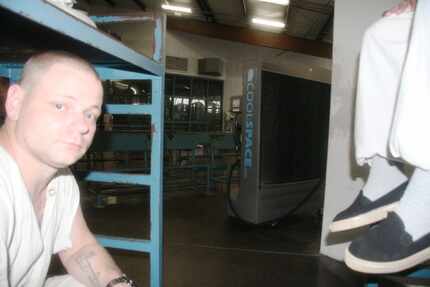
[[241,107],[241,157],[230,170],[229,214],[251,224],[277,221],[323,185],[330,85],[255,65],[244,73]]

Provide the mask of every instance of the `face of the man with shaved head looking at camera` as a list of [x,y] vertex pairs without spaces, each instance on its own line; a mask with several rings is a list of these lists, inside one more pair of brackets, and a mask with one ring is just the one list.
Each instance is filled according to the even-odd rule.
[[26,91],[16,126],[19,144],[43,165],[75,163],[93,140],[102,102],[101,83],[89,71],[54,64]]

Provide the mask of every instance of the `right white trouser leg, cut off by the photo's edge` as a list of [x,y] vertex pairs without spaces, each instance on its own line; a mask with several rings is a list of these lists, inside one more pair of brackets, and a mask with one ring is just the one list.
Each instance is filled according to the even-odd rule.
[[430,1],[417,1],[400,85],[390,151],[410,164],[430,169]]

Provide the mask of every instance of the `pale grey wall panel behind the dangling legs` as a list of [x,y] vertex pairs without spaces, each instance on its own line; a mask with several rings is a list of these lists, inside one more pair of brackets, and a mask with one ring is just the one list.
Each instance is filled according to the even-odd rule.
[[332,235],[328,237],[327,228],[333,217],[355,198],[367,172],[356,166],[352,147],[352,119],[361,39],[366,27],[398,2],[399,0],[342,0],[335,4],[329,151],[321,253],[340,260],[343,259],[346,244],[335,242],[344,238]]

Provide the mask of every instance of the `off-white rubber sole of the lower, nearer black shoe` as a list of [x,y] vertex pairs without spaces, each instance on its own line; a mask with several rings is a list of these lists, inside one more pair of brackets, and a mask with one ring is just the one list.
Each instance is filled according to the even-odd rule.
[[415,267],[430,259],[430,247],[407,258],[391,262],[367,261],[352,255],[348,248],[345,251],[345,263],[352,270],[368,274],[388,274],[401,272]]

